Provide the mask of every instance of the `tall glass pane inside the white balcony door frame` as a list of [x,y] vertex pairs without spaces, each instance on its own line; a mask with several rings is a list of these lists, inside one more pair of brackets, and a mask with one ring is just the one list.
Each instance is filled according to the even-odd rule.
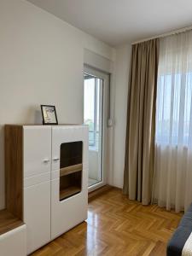
[[102,181],[103,80],[84,74],[84,124],[89,125],[89,186]]

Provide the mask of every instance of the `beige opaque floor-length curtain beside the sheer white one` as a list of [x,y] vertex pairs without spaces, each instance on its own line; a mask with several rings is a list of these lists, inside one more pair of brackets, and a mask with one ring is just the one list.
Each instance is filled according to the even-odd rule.
[[159,39],[132,46],[123,191],[131,200],[151,201]]

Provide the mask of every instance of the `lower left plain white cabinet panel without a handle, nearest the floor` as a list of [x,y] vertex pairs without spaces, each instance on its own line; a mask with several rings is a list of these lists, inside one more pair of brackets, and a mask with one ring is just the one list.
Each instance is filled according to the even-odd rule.
[[24,189],[27,253],[50,241],[50,182]]

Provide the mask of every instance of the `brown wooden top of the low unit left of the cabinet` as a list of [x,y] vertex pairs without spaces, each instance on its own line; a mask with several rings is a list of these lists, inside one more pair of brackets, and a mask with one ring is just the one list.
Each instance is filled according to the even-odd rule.
[[8,210],[0,211],[0,235],[20,227],[23,222],[11,214]]

